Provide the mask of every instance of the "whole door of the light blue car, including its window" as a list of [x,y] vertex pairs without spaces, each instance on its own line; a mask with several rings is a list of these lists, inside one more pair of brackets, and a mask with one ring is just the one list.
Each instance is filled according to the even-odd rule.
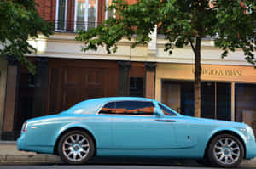
[[176,144],[172,121],[160,121],[151,101],[116,102],[112,117],[114,149],[172,149]]

